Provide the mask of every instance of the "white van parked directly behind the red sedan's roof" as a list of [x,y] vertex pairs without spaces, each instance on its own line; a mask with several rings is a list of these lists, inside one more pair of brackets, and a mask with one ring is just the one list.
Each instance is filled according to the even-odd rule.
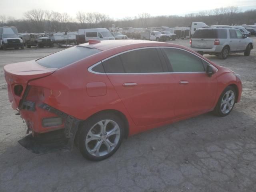
[[115,38],[106,28],[94,28],[94,29],[78,29],[80,34],[85,35],[85,41],[90,39],[94,40],[114,40]]

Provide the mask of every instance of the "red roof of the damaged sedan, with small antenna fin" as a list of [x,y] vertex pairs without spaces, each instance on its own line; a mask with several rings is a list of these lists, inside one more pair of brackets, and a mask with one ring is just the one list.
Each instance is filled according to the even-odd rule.
[[[104,40],[104,41],[99,41],[99,43],[94,43],[94,44],[85,43],[85,44],[80,44],[79,46],[92,47],[92,48],[96,48],[104,51],[104,50],[121,48],[126,46],[130,48],[141,48],[141,47],[149,47],[149,46],[175,46],[175,44],[156,42],[156,41],[146,41],[146,40]],[[184,48],[183,46],[178,46],[178,47]]]

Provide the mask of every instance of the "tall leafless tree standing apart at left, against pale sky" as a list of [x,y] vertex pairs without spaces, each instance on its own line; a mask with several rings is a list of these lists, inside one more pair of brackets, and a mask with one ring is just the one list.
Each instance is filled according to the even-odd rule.
[[44,26],[43,22],[45,20],[45,11],[42,9],[32,9],[24,13],[26,19],[30,20],[32,24],[36,27],[38,32],[42,32]]

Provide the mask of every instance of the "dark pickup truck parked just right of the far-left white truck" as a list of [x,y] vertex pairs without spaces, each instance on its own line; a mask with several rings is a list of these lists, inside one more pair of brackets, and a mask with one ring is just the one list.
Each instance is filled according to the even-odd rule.
[[27,48],[31,46],[44,47],[44,46],[53,46],[53,42],[49,37],[46,37],[45,34],[28,34],[22,36],[23,42]]

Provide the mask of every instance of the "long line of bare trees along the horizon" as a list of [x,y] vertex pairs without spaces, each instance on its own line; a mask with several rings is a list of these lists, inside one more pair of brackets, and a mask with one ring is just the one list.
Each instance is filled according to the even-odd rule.
[[205,22],[208,25],[254,24],[256,9],[242,12],[238,7],[229,6],[185,16],[151,16],[149,13],[138,14],[120,20],[111,19],[98,12],[78,11],[72,18],[67,12],[33,9],[24,13],[24,19],[15,19],[0,15],[0,26],[16,26],[19,32],[59,32],[77,31],[78,28],[117,27],[152,27],[152,26],[190,26],[191,22]]

